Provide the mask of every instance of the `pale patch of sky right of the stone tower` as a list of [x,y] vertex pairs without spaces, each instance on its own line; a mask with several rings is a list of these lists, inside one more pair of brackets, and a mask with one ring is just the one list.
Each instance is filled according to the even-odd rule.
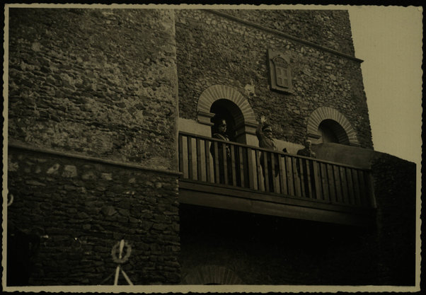
[[421,163],[422,10],[347,6],[374,149]]

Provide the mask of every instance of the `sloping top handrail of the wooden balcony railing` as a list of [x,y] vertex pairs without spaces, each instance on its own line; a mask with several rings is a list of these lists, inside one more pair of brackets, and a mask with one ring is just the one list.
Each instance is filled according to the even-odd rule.
[[333,161],[328,161],[328,160],[323,160],[323,159],[318,159],[318,158],[310,158],[310,157],[307,157],[307,156],[289,154],[289,153],[284,153],[282,151],[272,151],[271,149],[263,149],[263,148],[260,148],[258,146],[251,146],[251,145],[248,145],[248,144],[240,144],[240,143],[235,142],[235,141],[226,141],[226,140],[222,140],[222,139],[215,139],[213,137],[205,137],[204,135],[193,134],[193,133],[190,133],[190,132],[179,131],[179,134],[198,138],[198,139],[205,139],[205,140],[209,140],[209,141],[223,142],[224,144],[232,144],[234,146],[242,146],[242,147],[246,147],[246,148],[250,148],[250,149],[254,149],[254,150],[258,150],[258,151],[266,151],[266,152],[269,152],[269,153],[272,153],[272,154],[277,154],[277,155],[290,156],[290,157],[294,157],[294,158],[305,158],[306,160],[317,161],[317,162],[326,163],[326,164],[332,164],[332,165],[340,166],[340,167],[347,167],[347,168],[353,168],[353,169],[358,169],[358,170],[371,171],[371,169],[369,169],[369,168],[362,168],[362,167],[357,167],[357,166],[353,166],[353,165],[348,165],[348,164],[345,164],[345,163],[336,163],[336,162],[333,162]]

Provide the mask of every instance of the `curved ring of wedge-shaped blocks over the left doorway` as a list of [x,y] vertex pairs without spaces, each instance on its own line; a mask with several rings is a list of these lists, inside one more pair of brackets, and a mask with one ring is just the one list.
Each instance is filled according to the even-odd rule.
[[255,118],[255,113],[248,103],[248,100],[235,88],[226,85],[213,85],[205,89],[198,99],[197,111],[210,112],[212,104],[221,98],[226,98],[235,103],[243,113],[243,121],[250,122]]

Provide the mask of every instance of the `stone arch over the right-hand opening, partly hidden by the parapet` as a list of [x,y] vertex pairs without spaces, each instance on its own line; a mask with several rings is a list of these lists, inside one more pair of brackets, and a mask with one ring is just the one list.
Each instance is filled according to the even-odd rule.
[[306,128],[308,137],[311,139],[318,139],[321,137],[321,134],[318,133],[318,126],[324,120],[333,120],[342,127],[341,129],[337,129],[338,132],[336,132],[336,136],[342,144],[359,146],[357,132],[355,132],[355,129],[352,127],[349,120],[347,120],[345,115],[342,115],[342,113],[338,110],[329,107],[317,108],[311,113]]

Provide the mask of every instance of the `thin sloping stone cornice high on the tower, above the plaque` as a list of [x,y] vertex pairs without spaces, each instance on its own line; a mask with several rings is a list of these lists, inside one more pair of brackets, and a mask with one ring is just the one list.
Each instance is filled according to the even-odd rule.
[[217,14],[218,16],[223,16],[224,18],[229,18],[232,21],[238,21],[238,23],[243,23],[245,25],[250,25],[253,28],[258,28],[260,30],[265,30],[265,31],[267,31],[269,33],[272,33],[272,34],[275,34],[275,35],[280,35],[281,37],[287,38],[289,40],[293,40],[295,42],[299,42],[299,43],[304,44],[304,45],[309,45],[311,47],[315,47],[317,49],[320,49],[320,50],[323,50],[323,51],[326,51],[326,52],[330,52],[330,53],[339,55],[340,57],[345,57],[347,59],[354,60],[355,62],[359,62],[359,63],[364,62],[362,59],[358,59],[357,57],[352,57],[352,55],[345,54],[343,52],[339,52],[337,50],[333,50],[333,49],[330,49],[328,47],[324,47],[324,46],[318,45],[316,43],[313,43],[311,41],[300,39],[300,38],[294,37],[292,35],[288,35],[286,33],[282,33],[279,30],[274,30],[274,29],[271,29],[271,28],[266,28],[263,25],[258,25],[257,23],[251,23],[250,21],[245,21],[242,18],[237,18],[236,16],[231,16],[228,13],[223,13],[221,11],[217,11],[217,10],[214,10],[214,9],[205,9],[205,11],[209,11],[210,13]]

